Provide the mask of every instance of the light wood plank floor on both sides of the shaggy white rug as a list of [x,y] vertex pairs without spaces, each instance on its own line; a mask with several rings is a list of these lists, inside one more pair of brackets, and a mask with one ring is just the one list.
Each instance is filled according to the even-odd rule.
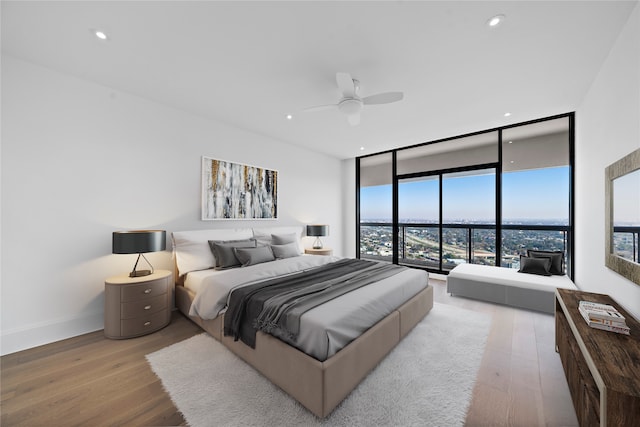
[[[445,282],[431,283],[436,302],[493,318],[466,425],[578,425],[552,315],[451,297]],[[114,341],[99,331],[3,356],[0,425],[185,425],[145,355],[200,332],[174,312],[145,337]]]

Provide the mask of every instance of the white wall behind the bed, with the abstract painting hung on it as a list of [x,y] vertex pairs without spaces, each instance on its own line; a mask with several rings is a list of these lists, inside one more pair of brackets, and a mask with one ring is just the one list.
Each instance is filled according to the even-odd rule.
[[[279,219],[201,221],[203,155],[278,170]],[[342,255],[341,178],[338,159],[3,55],[2,354],[102,329],[104,279],[135,262],[115,230],[319,222]],[[170,243],[148,258],[170,269]]]

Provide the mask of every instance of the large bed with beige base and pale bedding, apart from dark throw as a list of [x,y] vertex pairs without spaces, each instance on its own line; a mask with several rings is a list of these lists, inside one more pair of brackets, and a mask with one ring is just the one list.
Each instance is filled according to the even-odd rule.
[[[230,298],[227,289],[236,292],[274,275],[290,278],[321,269],[330,274],[331,267],[341,261],[337,257],[304,255],[302,231],[302,226],[295,226],[172,233],[175,300],[182,313],[309,411],[324,418],[431,310],[433,288],[426,272],[402,268],[306,311],[299,318],[299,334],[288,342],[284,337],[258,331],[252,348],[226,336],[225,323],[231,316],[225,315],[232,312],[226,306]],[[271,245],[275,253],[281,249],[274,248],[281,246],[279,240],[290,236],[295,236],[294,241],[282,245],[287,246],[290,256],[249,262],[238,268],[213,268],[217,261],[210,241],[254,240],[256,247]],[[291,253],[294,247],[295,254]],[[236,248],[235,253],[244,256],[251,251]],[[216,253],[224,258],[221,252]],[[313,347],[309,343],[321,345]]]

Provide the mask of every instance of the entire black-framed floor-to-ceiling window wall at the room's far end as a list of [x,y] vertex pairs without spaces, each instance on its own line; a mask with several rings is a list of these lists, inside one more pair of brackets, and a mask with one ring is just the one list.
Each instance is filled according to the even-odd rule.
[[562,250],[569,271],[572,120],[358,158],[358,255],[446,273],[460,263],[517,268],[527,249]]

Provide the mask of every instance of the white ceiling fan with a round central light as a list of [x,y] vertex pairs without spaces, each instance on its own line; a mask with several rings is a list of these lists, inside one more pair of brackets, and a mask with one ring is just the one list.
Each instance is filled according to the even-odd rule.
[[340,112],[347,115],[347,120],[351,126],[356,126],[360,123],[360,111],[362,111],[363,106],[390,104],[401,101],[404,97],[402,92],[383,92],[361,98],[358,94],[360,91],[360,82],[353,79],[349,73],[336,73],[336,82],[338,83],[340,93],[342,93],[342,98],[337,104],[317,105],[305,108],[304,111],[322,111],[337,108]]

